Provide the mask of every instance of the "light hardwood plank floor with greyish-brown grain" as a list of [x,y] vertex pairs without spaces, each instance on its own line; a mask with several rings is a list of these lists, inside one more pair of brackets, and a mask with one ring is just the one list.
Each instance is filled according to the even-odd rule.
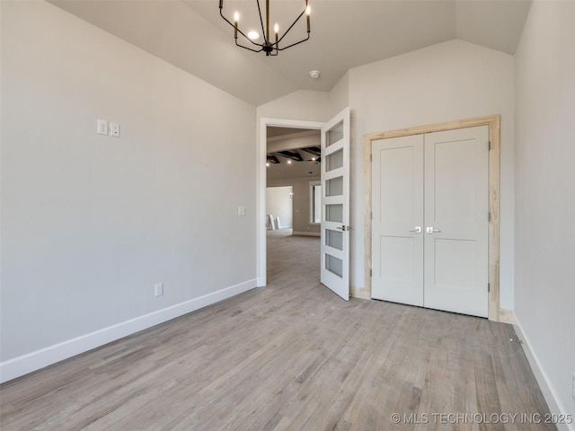
[[2,430],[556,429],[528,423],[548,409],[511,326],[344,302],[317,238],[270,233],[268,259],[265,288],[4,383]]

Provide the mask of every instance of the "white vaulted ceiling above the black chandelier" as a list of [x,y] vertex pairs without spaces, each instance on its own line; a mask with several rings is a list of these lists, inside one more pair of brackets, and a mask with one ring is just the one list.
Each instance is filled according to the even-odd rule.
[[[234,29],[219,16],[219,0],[49,1],[254,106],[297,90],[329,91],[352,67],[447,40],[514,54],[531,5],[531,0],[310,0],[310,40],[266,57],[235,47]],[[239,9],[249,22],[246,7],[253,4],[224,0],[224,12],[231,17]],[[271,0],[272,20],[278,13],[280,26],[288,25],[303,4]],[[305,35],[305,27],[292,32]],[[311,70],[320,77],[312,79]]]

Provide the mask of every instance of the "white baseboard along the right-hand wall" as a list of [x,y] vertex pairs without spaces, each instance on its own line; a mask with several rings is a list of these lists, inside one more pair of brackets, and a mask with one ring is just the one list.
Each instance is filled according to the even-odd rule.
[[[549,383],[549,378],[547,377],[543,366],[541,366],[539,358],[532,348],[531,341],[529,340],[529,337],[526,336],[517,316],[515,317],[515,321],[516,323],[513,325],[513,328],[517,333],[517,338],[523,341],[521,347],[523,347],[523,351],[527,356],[527,361],[529,362],[529,365],[531,365],[531,369],[535,375],[535,380],[539,383],[539,388],[543,392],[544,399],[547,401],[549,411],[556,415],[568,414],[569,411],[562,405],[561,400],[559,400],[559,397],[557,397],[556,392],[553,390],[553,385]],[[575,431],[575,424],[557,424],[557,429],[559,431]]]

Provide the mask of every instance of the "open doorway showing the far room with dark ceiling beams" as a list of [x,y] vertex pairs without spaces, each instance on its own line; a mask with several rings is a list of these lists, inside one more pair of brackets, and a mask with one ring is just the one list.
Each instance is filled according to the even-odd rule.
[[[312,250],[319,256],[320,129],[268,125],[265,133],[265,250],[273,249],[274,253],[288,250],[278,247],[279,242],[306,238],[306,242],[312,243]],[[286,214],[288,207],[290,215]],[[275,214],[280,212],[283,212],[283,215]],[[293,258],[294,256],[289,257]],[[266,259],[267,277],[275,274],[268,271],[269,261]],[[317,272],[319,279],[319,266]]]

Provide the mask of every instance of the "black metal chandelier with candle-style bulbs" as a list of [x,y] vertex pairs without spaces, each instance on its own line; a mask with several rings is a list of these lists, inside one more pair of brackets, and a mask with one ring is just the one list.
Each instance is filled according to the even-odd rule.
[[[262,39],[263,41],[261,43],[258,43],[256,40],[259,39],[260,35],[256,32],[256,31],[250,31],[248,32],[248,34],[246,35],[243,31],[241,31],[238,27],[238,22],[240,21],[240,15],[238,12],[234,13],[234,23],[230,22],[225,16],[224,13],[222,11],[223,7],[224,7],[224,0],[219,0],[219,14],[222,18],[224,18],[224,20],[230,24],[232,27],[234,27],[234,39],[235,39],[235,45],[237,45],[240,48],[244,48],[244,49],[249,49],[250,51],[253,52],[265,52],[266,56],[277,56],[279,51],[283,51],[284,49],[288,49],[291,48],[293,46],[296,46],[302,42],[305,42],[305,40],[309,39],[309,13],[310,13],[310,8],[309,8],[309,4],[308,4],[308,0],[305,0],[305,8],[302,11],[302,13],[300,13],[297,18],[296,21],[292,22],[292,24],[288,27],[288,30],[285,31],[281,36],[279,36],[279,25],[278,22],[275,23],[274,25],[274,29],[273,32],[275,33],[275,41],[272,41],[271,39],[271,33],[270,33],[270,0],[266,0],[266,16],[265,16],[265,27],[263,25],[263,18],[261,16],[261,7],[260,7],[260,0],[256,0],[256,3],[258,4],[258,12],[260,13],[260,23],[261,23],[261,32],[262,34]],[[280,43],[281,41],[286,37],[286,35],[288,34],[288,32],[294,27],[294,25],[296,25],[296,22],[299,21],[299,19],[305,16],[305,20],[307,22],[307,37],[305,37],[302,40],[299,40],[295,43],[291,43],[285,47],[280,47]],[[249,42],[249,44],[246,44],[248,46],[244,46],[242,43],[238,42],[237,40],[237,36],[238,33],[240,35],[243,36],[243,43],[245,43],[245,41]]]

